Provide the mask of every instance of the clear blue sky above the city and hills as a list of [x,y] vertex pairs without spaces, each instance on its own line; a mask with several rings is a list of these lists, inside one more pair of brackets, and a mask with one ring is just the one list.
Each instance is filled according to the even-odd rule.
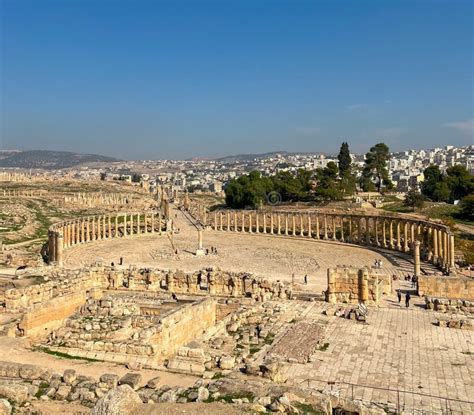
[[0,149],[473,144],[473,4],[0,0]]

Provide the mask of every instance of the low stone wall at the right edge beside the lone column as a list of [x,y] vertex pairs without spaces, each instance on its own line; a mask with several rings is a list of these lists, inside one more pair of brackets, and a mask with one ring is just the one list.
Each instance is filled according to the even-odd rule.
[[474,279],[468,277],[418,277],[418,294],[474,301]]

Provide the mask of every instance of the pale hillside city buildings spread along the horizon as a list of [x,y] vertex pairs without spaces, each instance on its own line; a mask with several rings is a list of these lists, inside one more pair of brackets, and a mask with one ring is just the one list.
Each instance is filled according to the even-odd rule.
[[[351,154],[351,158],[356,176],[359,176],[364,166],[365,156]],[[254,170],[260,171],[265,176],[272,176],[281,171],[295,172],[301,168],[306,170],[324,168],[329,162],[338,164],[337,155],[272,152],[220,159],[107,161],[51,171],[30,170],[29,174],[56,178],[70,177],[79,180],[136,181],[150,188],[169,184],[177,190],[221,193],[229,180]],[[432,164],[437,165],[441,172],[445,172],[454,165],[461,165],[472,174],[474,172],[474,145],[465,147],[447,145],[444,148],[391,153],[388,172],[394,184],[394,190],[402,193],[410,189],[418,190],[419,184],[424,180],[424,169]],[[1,167],[0,170],[2,170]],[[12,168],[3,170],[25,171],[25,169]]]

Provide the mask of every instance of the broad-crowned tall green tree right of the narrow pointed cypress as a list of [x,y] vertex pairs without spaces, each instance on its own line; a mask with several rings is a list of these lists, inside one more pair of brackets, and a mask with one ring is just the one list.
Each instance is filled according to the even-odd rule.
[[386,144],[378,143],[370,148],[365,155],[365,167],[362,173],[364,180],[361,182],[363,188],[364,186],[369,188],[369,182],[373,181],[375,181],[379,193],[383,185],[388,188],[393,186],[388,177],[387,163],[389,160],[390,151]]

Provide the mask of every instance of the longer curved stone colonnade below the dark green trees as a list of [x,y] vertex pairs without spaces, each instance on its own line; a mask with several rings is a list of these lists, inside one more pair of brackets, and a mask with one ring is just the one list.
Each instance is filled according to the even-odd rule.
[[[199,221],[216,231],[298,236],[412,253],[442,269],[454,269],[454,234],[436,222],[395,216],[315,211],[197,209]],[[418,265],[419,272],[419,265]]]

